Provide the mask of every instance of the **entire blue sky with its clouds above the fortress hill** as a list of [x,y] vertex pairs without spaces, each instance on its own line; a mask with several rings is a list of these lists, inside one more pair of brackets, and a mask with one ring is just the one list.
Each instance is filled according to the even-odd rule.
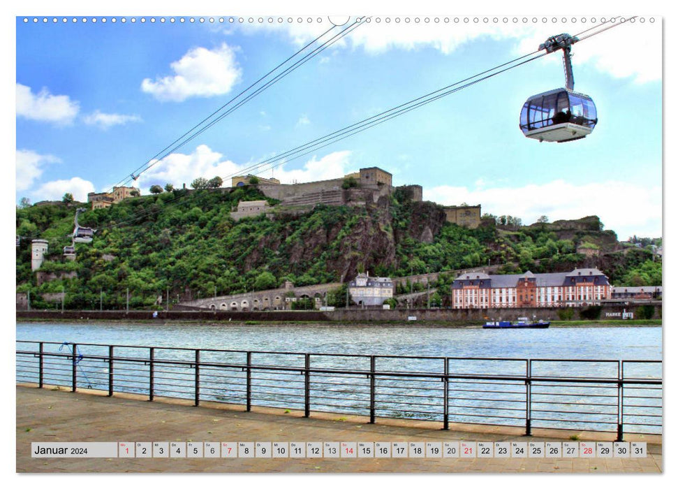
[[[445,23],[439,15],[436,23],[435,15],[405,15],[397,24],[395,16],[372,17],[142,173],[138,186],[147,193],[152,184],[216,175],[228,185],[226,177],[252,163],[527,54],[547,36],[593,25],[587,15],[526,24],[457,17]],[[258,17],[242,24],[237,17],[23,18],[16,20],[16,198],[32,202],[110,189],[332,25],[324,16],[310,24],[287,16],[280,24],[266,16],[262,24]],[[421,184],[439,203],[480,204],[524,224],[542,214],[552,221],[597,214],[622,240],[658,237],[662,27],[660,17],[642,18],[573,48],[575,89],[594,98],[600,119],[584,140],[538,143],[518,129],[528,96],[564,85],[555,53],[261,175],[302,182],[380,166],[395,184]],[[627,49],[610,48],[621,44]]]

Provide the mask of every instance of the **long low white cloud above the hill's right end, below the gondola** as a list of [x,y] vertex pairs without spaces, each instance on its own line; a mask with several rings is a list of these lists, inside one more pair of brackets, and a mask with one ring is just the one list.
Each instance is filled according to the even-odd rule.
[[614,180],[575,185],[554,180],[524,187],[473,190],[441,186],[424,189],[424,198],[444,205],[480,204],[483,213],[520,217],[523,224],[531,224],[542,215],[550,221],[597,215],[605,229],[616,231],[621,240],[633,234],[658,237],[662,232],[661,186],[641,187]]

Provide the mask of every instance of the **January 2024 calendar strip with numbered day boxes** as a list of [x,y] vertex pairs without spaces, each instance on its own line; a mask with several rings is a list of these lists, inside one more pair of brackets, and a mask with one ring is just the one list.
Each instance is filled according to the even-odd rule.
[[644,441],[112,441],[31,443],[33,458],[646,458]]

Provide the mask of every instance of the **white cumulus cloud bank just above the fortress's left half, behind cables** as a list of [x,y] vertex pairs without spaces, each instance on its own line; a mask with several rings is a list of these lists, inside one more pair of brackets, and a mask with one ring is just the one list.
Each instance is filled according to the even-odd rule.
[[[327,180],[339,178],[350,173],[350,151],[339,151],[327,154],[318,159],[316,156],[304,163],[302,168],[286,170],[284,165],[274,169],[273,176],[281,183],[314,182],[315,180]],[[229,159],[224,159],[221,153],[212,151],[207,145],[200,145],[191,154],[172,153],[152,168],[142,173],[136,182],[142,192],[147,193],[152,185],[171,183],[175,187],[186,187],[198,177],[208,180],[212,177],[222,177],[224,187],[230,186],[230,177],[247,173],[258,174],[258,170],[247,170],[254,162],[238,164]],[[262,174],[262,177],[270,177],[270,170]]]

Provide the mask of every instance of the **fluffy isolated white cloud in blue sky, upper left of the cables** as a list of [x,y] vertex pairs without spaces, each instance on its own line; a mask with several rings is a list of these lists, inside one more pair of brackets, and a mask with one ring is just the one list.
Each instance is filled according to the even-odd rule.
[[219,48],[193,48],[182,59],[170,65],[174,75],[145,78],[143,92],[160,101],[181,102],[193,96],[210,97],[230,92],[240,80],[242,70],[235,59],[235,50],[223,43]]

